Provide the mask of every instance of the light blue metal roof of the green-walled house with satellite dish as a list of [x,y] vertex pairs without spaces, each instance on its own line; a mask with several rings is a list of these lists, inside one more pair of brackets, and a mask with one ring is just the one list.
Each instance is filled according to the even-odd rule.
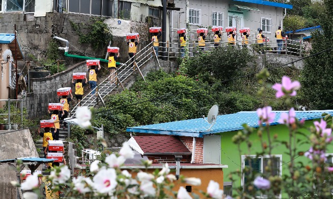
[[[280,114],[287,111],[274,111],[275,119],[270,125],[278,125],[277,120]],[[326,111],[296,111],[297,119],[318,119],[322,118],[322,113],[333,114],[333,110]],[[228,131],[237,131],[243,129],[242,125],[246,123],[250,127],[259,127],[258,115],[255,111],[242,111],[227,115],[218,115],[215,125],[211,128],[203,118],[188,119],[182,121],[172,121],[166,123],[157,123],[155,125],[145,125],[139,127],[126,128],[127,132],[150,133],[162,135],[178,135],[188,137],[202,137],[207,134],[222,133]]]

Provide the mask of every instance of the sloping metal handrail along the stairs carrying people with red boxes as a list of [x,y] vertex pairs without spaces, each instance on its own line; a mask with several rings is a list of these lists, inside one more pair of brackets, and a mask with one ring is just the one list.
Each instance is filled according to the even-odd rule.
[[[136,59],[138,59],[138,58],[140,58],[144,53],[146,53],[146,52],[148,52],[151,48],[152,48],[152,42],[150,42],[149,44],[147,44],[145,47],[143,47],[138,53],[136,53],[136,57],[135,57],[135,59],[132,61],[132,62],[130,62],[132,59],[129,59],[129,60],[127,60],[123,65],[121,65],[119,68],[118,68],[118,70],[119,69],[121,69],[122,68],[122,70],[126,70],[127,68],[132,68],[132,64],[135,62],[135,60]],[[145,50],[146,49],[146,50]],[[145,51],[144,51],[145,50]],[[142,51],[144,51],[143,53],[142,53]],[[141,54],[141,55],[140,55]],[[137,55],[139,55],[139,56],[137,56]],[[147,56],[146,56],[147,57]],[[145,57],[144,57],[145,58]],[[142,61],[142,59],[140,60],[140,61]],[[140,62],[139,61],[139,62]],[[97,92],[99,92],[99,90],[101,90],[101,89],[103,89],[103,88],[105,88],[112,80],[114,80],[115,78],[116,78],[116,76],[112,79],[112,80],[109,80],[109,78],[111,77],[111,76],[114,76],[115,74],[117,73],[117,71],[115,71],[115,72],[113,72],[112,74],[110,74],[104,81],[102,81],[101,83],[99,83],[97,86],[96,86],[96,88],[95,89],[97,89],[98,88],[98,91]],[[130,74],[129,74],[129,76],[132,74],[133,72],[131,72]],[[119,78],[122,78],[124,76],[124,74],[121,76],[121,77],[117,77],[118,79]],[[129,76],[127,76],[127,77],[129,77]],[[127,78],[126,77],[126,78]],[[109,80],[108,82],[107,82],[107,80]],[[124,80],[123,80],[124,81]],[[122,82],[122,81],[120,81],[120,82]],[[105,84],[105,85],[103,85],[103,84]],[[103,85],[101,88],[99,88],[98,86],[100,86],[100,85]],[[107,87],[105,90],[108,90],[111,86],[112,86],[113,84],[111,84],[111,85],[109,85],[109,87]],[[112,89],[113,90],[113,89]],[[112,91],[111,90],[111,91]],[[110,91],[110,92],[111,92]],[[94,103],[94,101],[92,101],[92,102],[90,102],[90,103],[88,103],[89,101],[90,101],[90,99],[93,97],[92,95],[90,95],[91,94],[91,92],[92,91],[90,91],[84,98],[82,98],[82,100],[81,100],[81,102],[84,100],[84,99],[86,99],[87,97],[89,97],[88,99],[87,99],[87,101],[85,101],[82,105],[86,105],[86,106],[90,106],[91,104],[93,104]],[[104,92],[105,91],[103,91],[103,92],[101,92],[101,93],[99,93],[100,95],[104,95]],[[107,94],[109,94],[110,92],[108,92]],[[106,95],[107,95],[106,94]],[[106,95],[104,95],[104,96],[106,96]],[[101,96],[102,98],[104,98],[104,96]],[[87,105],[88,104],[88,105]],[[76,108],[78,107],[78,105],[79,104],[76,104],[75,106],[74,106],[74,108],[72,108],[72,112],[75,112],[74,110],[76,110]]]

